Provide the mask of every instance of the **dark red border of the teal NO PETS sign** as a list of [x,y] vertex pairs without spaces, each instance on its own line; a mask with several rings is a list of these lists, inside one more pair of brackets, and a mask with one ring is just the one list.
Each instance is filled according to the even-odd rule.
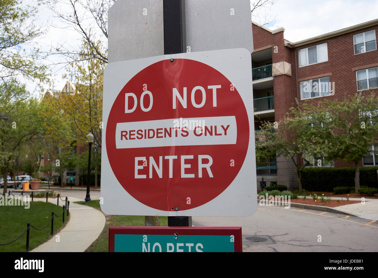
[[243,252],[242,227],[109,227],[109,252],[114,252],[115,235],[234,235],[234,252]]

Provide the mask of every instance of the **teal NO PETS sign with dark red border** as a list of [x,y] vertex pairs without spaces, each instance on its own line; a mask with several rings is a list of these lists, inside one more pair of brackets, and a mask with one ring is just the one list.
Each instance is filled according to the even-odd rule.
[[242,250],[242,227],[109,227],[109,252]]

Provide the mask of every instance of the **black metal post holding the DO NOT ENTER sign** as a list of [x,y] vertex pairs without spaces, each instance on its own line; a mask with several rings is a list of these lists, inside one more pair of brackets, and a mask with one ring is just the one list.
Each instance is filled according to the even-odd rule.
[[[163,0],[164,54],[186,52],[184,11],[184,0]],[[168,216],[168,226],[192,226],[192,217]]]

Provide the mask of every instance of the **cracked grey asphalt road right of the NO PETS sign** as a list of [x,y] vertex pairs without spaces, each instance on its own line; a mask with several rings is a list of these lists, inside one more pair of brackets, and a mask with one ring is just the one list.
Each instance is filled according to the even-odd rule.
[[378,251],[378,221],[344,214],[259,206],[249,217],[192,217],[192,224],[242,226],[243,252]]

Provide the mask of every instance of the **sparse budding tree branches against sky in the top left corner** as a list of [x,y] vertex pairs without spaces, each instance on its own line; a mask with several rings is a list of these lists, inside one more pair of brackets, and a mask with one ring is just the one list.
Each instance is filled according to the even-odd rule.
[[[40,2],[40,0],[37,0]],[[43,31],[34,24],[37,8],[19,0],[0,0],[0,78],[13,82],[16,76],[45,81],[46,65],[38,61],[39,51],[26,47]],[[0,112],[1,117],[1,112]]]

